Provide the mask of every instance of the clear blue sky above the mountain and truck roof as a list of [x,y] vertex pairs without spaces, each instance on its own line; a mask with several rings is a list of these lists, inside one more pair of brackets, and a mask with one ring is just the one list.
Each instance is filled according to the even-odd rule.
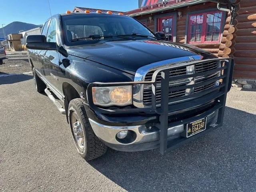
[[[49,0],[52,15],[72,11],[75,6],[128,11],[138,8],[138,0]],[[50,17],[48,0],[0,0],[0,26],[14,21],[44,24]]]

